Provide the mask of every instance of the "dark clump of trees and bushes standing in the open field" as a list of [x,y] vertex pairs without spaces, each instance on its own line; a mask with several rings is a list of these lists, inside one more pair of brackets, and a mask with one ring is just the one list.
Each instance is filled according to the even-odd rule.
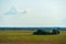
[[53,32],[47,32],[47,31],[43,31],[43,30],[37,30],[36,32],[33,33],[34,35],[55,35],[55,34],[59,34],[59,31],[54,29]]

